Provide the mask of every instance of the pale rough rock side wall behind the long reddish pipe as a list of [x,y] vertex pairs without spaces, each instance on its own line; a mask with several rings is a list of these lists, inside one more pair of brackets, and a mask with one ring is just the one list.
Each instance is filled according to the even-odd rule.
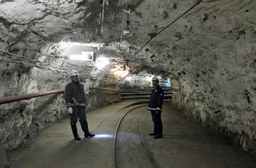
[[[64,89],[70,81],[70,77],[60,72],[17,66],[14,63],[0,62],[0,65],[2,74],[0,84],[3,88],[0,92],[1,97]],[[96,87],[100,86],[96,85]],[[120,101],[118,92],[93,90],[89,94],[89,110],[118,101]],[[18,148],[24,140],[35,136],[40,129],[68,116],[64,93],[0,106],[0,143],[4,150]]]

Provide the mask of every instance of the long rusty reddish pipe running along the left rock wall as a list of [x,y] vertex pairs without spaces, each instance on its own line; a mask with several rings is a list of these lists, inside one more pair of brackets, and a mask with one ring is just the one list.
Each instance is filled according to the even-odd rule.
[[[97,89],[119,92],[118,90],[108,89],[108,88],[99,88],[99,87],[89,88],[89,90],[97,90]],[[46,95],[55,94],[55,93],[62,93],[62,92],[65,92],[65,89],[58,89],[58,90],[52,90],[52,91],[42,91],[42,92],[36,92],[36,93],[29,93],[29,94],[2,97],[2,98],[0,98],[0,105],[5,104],[5,103],[11,103],[11,102],[14,102],[14,101],[30,100],[32,98],[46,96]]]

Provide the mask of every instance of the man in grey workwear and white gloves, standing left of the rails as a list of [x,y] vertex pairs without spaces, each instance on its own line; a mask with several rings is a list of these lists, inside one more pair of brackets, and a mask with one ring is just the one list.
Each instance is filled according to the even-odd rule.
[[79,82],[78,73],[72,70],[70,73],[71,81],[65,87],[65,102],[67,108],[72,108],[70,114],[70,126],[73,135],[77,141],[81,138],[77,134],[76,122],[79,118],[80,125],[84,131],[84,137],[93,137],[94,134],[89,132],[88,123],[86,120],[87,101],[84,96],[84,85]]

